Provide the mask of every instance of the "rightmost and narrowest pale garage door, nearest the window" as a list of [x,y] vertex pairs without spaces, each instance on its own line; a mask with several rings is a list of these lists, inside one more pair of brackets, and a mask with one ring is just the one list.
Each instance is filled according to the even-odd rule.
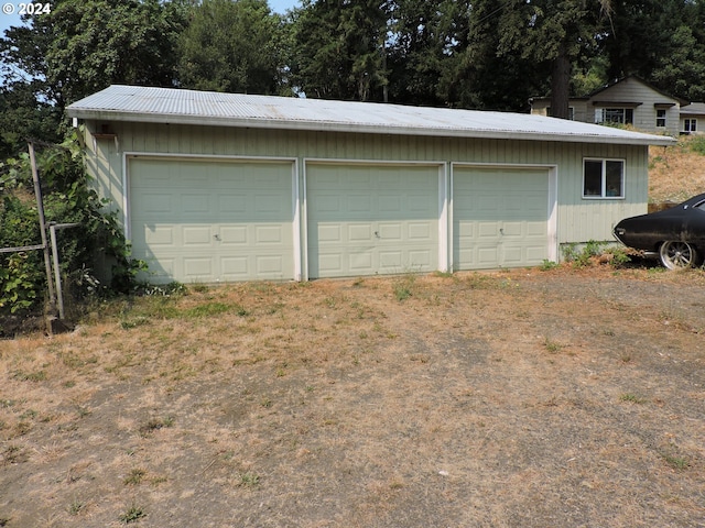
[[541,264],[549,257],[549,172],[454,167],[456,270]]

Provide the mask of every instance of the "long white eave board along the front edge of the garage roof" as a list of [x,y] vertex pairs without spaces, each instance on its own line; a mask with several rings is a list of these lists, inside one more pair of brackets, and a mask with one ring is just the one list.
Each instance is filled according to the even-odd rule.
[[294,130],[310,132],[356,132],[389,135],[425,135],[434,138],[476,138],[491,140],[527,140],[527,141],[561,141],[570,143],[618,143],[623,145],[661,145],[675,143],[670,136],[643,134],[643,136],[620,135],[585,135],[546,132],[519,132],[501,130],[463,130],[442,129],[431,127],[392,127],[356,123],[334,123],[325,121],[282,121],[261,118],[223,118],[203,116],[169,116],[160,113],[133,113],[110,110],[91,110],[67,108],[68,117],[94,121],[124,121],[158,124],[189,124],[196,127],[235,127],[268,130]]

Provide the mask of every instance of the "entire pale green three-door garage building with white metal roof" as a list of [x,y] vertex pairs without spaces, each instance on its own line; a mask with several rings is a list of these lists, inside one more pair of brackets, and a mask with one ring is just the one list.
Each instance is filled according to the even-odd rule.
[[540,116],[111,86],[67,108],[153,283],[558,261],[647,212],[668,136]]

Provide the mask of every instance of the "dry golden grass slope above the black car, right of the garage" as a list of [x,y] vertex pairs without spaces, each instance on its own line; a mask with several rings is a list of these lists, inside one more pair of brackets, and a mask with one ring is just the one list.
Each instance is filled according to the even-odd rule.
[[649,148],[649,201],[681,202],[705,193],[705,156],[691,148],[699,136],[682,136],[675,146]]

